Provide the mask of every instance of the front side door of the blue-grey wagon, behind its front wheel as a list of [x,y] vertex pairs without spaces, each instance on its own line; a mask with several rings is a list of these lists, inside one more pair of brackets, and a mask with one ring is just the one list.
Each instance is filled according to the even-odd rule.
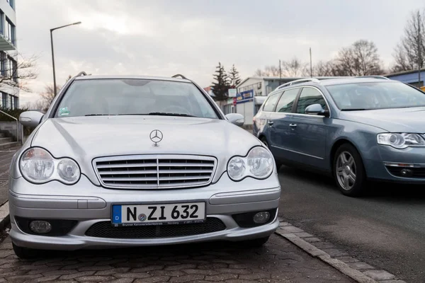
[[297,153],[297,161],[307,166],[326,169],[326,137],[329,117],[307,115],[305,108],[312,104],[320,104],[329,110],[327,102],[318,88],[305,86],[295,105],[295,137],[293,150]]

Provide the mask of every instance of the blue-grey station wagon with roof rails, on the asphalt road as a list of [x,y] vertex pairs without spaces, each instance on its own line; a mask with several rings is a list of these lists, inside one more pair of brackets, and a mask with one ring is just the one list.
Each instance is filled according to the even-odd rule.
[[302,79],[276,88],[254,134],[282,163],[333,175],[344,195],[367,180],[425,183],[425,93],[384,77]]

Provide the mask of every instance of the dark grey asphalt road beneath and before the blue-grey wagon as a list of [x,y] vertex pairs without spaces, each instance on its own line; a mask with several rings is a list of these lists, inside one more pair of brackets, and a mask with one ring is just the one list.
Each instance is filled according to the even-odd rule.
[[407,282],[425,282],[425,185],[372,183],[346,197],[330,178],[282,166],[279,214],[351,256]]

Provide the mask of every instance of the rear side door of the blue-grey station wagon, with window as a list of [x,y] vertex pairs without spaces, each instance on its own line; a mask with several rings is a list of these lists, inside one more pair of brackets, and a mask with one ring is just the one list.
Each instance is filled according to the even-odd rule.
[[293,107],[301,88],[290,88],[280,96],[276,109],[269,116],[270,145],[275,156],[281,161],[293,161],[295,154],[295,132],[293,128]]

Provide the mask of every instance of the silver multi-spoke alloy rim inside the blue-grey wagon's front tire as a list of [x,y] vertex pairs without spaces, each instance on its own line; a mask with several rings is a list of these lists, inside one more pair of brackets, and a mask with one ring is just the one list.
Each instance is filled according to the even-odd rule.
[[356,162],[348,151],[342,151],[336,159],[336,178],[344,190],[351,190],[356,183]]

